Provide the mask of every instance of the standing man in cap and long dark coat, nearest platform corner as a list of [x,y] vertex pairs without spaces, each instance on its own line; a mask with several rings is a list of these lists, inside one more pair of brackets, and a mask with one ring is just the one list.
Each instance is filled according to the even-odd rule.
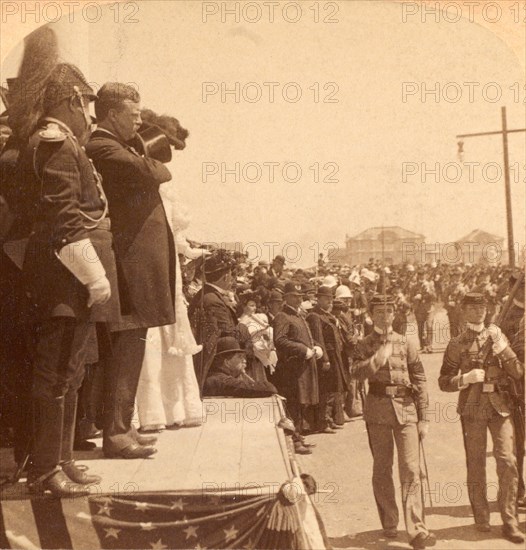
[[321,359],[323,351],[300,313],[301,285],[292,281],[285,283],[283,298],[283,309],[274,319],[274,344],[278,353],[276,384],[287,398],[296,430],[304,434],[316,430],[319,403],[316,359]]

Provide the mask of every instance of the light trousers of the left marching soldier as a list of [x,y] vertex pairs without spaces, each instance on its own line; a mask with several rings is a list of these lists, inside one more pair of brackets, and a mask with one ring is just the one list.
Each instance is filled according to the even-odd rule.
[[416,423],[367,423],[369,445],[373,453],[373,492],[384,529],[398,526],[398,507],[393,482],[394,443],[398,452],[398,471],[402,484],[402,506],[409,540],[428,533],[424,524],[420,452]]

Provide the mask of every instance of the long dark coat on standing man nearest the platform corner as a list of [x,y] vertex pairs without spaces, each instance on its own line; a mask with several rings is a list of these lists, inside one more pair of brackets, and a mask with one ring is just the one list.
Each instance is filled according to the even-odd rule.
[[279,359],[276,375],[280,392],[303,405],[317,405],[316,360],[305,358],[307,349],[312,349],[316,342],[307,321],[288,304],[274,319],[274,344]]

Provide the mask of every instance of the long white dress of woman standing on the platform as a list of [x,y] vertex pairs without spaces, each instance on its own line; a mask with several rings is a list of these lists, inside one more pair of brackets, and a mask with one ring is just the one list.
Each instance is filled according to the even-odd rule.
[[[176,254],[174,325],[148,330],[146,352],[137,390],[137,412],[141,431],[161,431],[165,427],[198,426],[203,408],[194,371],[192,355],[201,351],[188,321],[182,287],[179,254],[195,259],[209,252],[191,248],[184,236],[190,219],[188,212],[174,197],[165,201],[171,218]],[[171,216],[170,211],[171,210]]]

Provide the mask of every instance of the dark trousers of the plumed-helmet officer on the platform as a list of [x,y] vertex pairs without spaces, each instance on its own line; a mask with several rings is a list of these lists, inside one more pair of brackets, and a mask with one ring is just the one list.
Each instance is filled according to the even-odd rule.
[[90,324],[46,319],[37,329],[33,369],[32,472],[52,471],[73,457],[78,389],[84,377]]

